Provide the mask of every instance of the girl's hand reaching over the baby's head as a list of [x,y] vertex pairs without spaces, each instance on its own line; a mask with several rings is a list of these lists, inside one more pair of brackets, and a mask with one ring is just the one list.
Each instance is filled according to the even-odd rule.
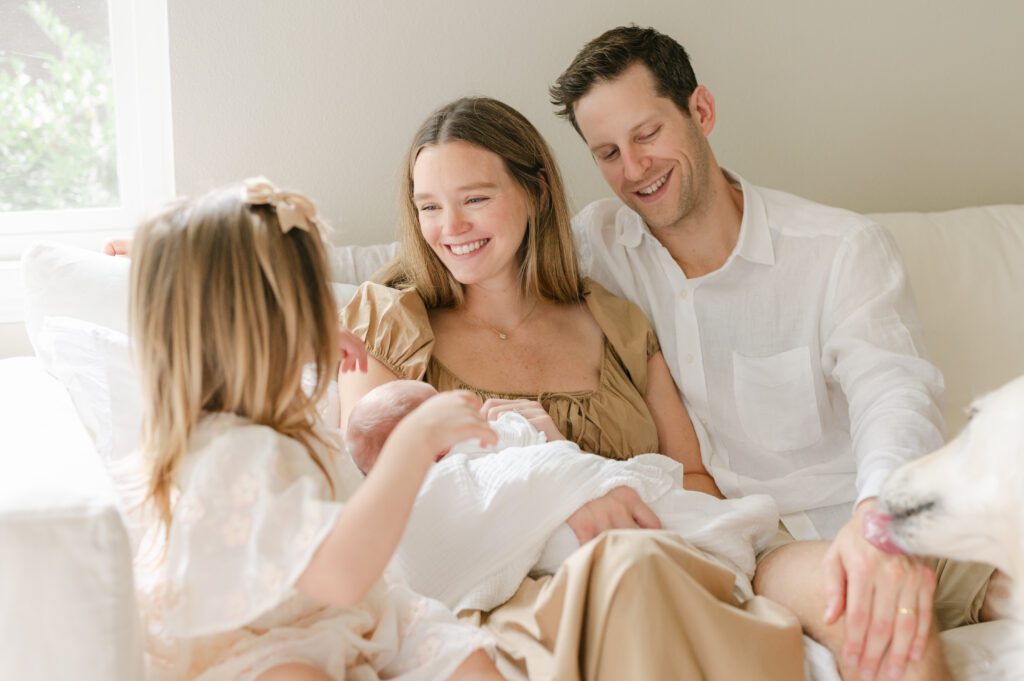
[[388,439],[396,436],[409,443],[409,452],[422,452],[430,461],[442,458],[463,440],[476,438],[483,445],[498,442],[498,433],[480,414],[480,398],[468,390],[442,392],[423,402],[398,423]]

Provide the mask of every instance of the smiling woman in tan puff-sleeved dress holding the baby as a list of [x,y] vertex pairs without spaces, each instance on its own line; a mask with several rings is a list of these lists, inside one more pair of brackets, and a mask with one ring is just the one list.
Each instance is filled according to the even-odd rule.
[[[685,486],[721,496],[650,325],[581,278],[558,168],[525,118],[487,98],[432,114],[410,148],[401,201],[401,250],[386,286],[364,285],[342,313],[371,357],[366,374],[340,383],[342,426],[372,388],[425,380],[475,391],[492,418],[550,414],[558,432],[549,436],[585,451],[660,452],[683,463]],[[569,519],[581,542],[609,524],[657,526],[639,500],[615,501],[595,500]],[[633,517],[598,517],[624,509]],[[723,605],[722,584],[731,578],[678,542],[612,534],[480,619],[530,677],[799,677],[795,620],[764,604],[757,616]],[[637,636],[639,618],[653,631]],[[708,636],[709,621],[728,638]],[[757,651],[736,655],[736,644]]]

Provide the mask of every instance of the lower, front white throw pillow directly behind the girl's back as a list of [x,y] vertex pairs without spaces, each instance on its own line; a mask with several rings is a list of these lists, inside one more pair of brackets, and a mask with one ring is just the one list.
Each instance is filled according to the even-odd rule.
[[50,316],[34,342],[68,389],[103,461],[131,453],[142,425],[142,392],[128,336],[84,320]]

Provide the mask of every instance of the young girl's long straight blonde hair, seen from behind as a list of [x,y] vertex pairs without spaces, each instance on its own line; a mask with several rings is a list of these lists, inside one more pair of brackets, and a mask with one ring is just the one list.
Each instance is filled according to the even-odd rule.
[[[234,185],[178,201],[132,247],[130,323],[144,411],[147,499],[170,530],[173,475],[204,414],[237,414],[315,443],[315,405],[337,371],[338,316],[322,236],[282,229],[271,205]],[[309,394],[303,367],[315,366]]]

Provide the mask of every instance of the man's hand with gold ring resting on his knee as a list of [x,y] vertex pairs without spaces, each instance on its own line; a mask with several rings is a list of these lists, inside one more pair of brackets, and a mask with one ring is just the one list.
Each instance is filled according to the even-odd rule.
[[[824,557],[826,625],[846,611],[843,663],[871,679],[882,670],[899,679],[908,657],[921,659],[932,624],[935,572],[905,555],[883,553],[864,539],[865,500]],[[888,652],[887,652],[888,650]]]

